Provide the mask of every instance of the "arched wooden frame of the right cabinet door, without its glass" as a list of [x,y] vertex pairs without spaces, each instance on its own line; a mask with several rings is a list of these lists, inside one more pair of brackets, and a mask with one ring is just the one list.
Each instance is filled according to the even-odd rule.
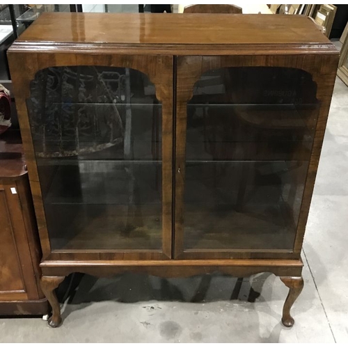
[[[322,149],[322,141],[331,103],[335,74],[338,65],[337,54],[279,54],[245,56],[178,56],[176,76],[175,115],[175,210],[174,245],[175,259],[220,259],[220,258],[261,258],[299,259],[303,236],[306,229],[310,200],[313,194],[315,176]],[[320,109],[310,164],[303,189],[294,247],[292,251],[271,250],[214,250],[184,251],[184,177],[186,161],[187,102],[193,96],[193,86],[200,76],[209,70],[228,67],[283,67],[297,68],[312,74],[317,84],[317,100]]]

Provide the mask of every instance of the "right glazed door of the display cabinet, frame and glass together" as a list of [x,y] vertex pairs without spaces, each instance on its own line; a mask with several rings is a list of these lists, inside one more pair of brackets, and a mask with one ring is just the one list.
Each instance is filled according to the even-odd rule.
[[175,258],[299,258],[332,64],[177,58]]

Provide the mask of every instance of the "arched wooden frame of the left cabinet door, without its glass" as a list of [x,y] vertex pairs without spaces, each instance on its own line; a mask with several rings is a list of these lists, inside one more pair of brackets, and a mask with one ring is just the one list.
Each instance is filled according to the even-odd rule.
[[[38,220],[42,260],[166,260],[172,257],[172,175],[173,175],[173,56],[141,54],[116,54],[90,49],[88,54],[76,52],[45,52],[40,47],[36,52],[8,52],[11,77],[13,80],[19,125],[22,134],[26,163],[35,214]],[[38,167],[31,137],[31,128],[26,109],[26,99],[30,97],[30,83],[39,70],[54,66],[99,65],[132,68],[148,75],[155,84],[156,97],[162,104],[162,250],[161,251],[53,251],[45,219],[42,193],[38,177]],[[18,68],[21,66],[23,68]]]

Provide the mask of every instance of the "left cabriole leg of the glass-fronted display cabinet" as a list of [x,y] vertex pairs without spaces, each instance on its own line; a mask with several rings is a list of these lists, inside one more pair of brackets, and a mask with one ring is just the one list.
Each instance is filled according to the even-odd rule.
[[49,304],[52,307],[52,316],[48,319],[48,324],[51,327],[61,326],[61,307],[54,290],[58,287],[59,284],[65,279],[65,277],[49,277],[42,276],[40,284],[42,292],[45,294]]

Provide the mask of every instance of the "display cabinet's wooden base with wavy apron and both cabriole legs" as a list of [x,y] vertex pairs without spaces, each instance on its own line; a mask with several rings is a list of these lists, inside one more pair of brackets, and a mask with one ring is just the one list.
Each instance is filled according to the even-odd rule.
[[273,273],[289,287],[282,317],[282,323],[287,327],[294,325],[290,310],[303,289],[301,260],[96,260],[88,262],[55,260],[42,262],[40,267],[42,268],[42,292],[52,307],[52,316],[48,321],[51,327],[58,327],[63,322],[55,290],[65,276],[74,272],[100,278],[125,272],[146,273],[164,278],[184,278],[214,272],[235,277],[248,277],[263,272]]

